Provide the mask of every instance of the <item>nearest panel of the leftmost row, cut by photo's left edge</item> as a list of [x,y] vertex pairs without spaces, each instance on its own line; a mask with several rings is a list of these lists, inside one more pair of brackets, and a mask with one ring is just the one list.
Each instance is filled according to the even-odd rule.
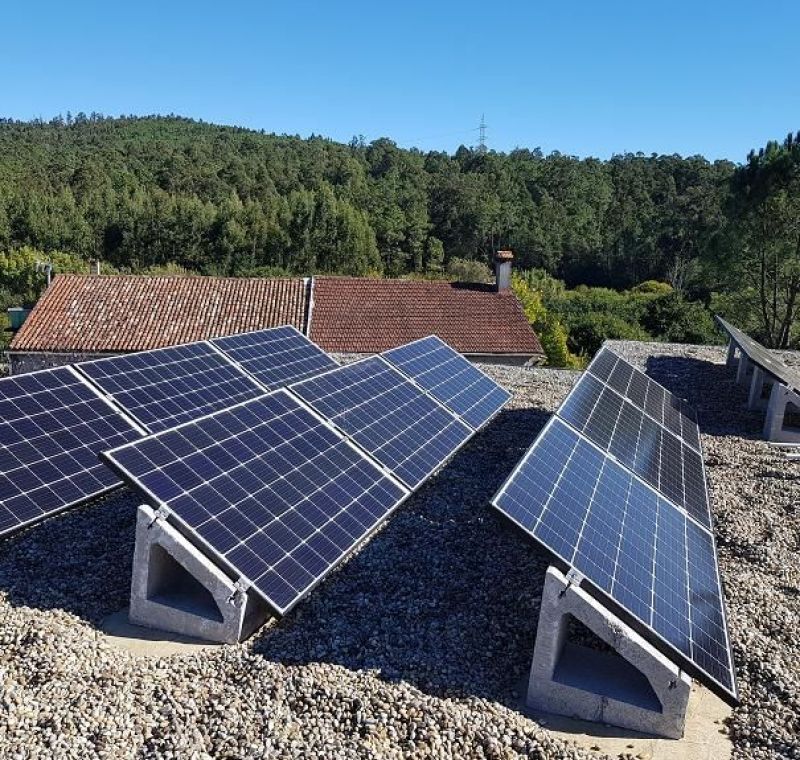
[[0,534],[118,486],[97,455],[140,437],[70,367],[0,380]]

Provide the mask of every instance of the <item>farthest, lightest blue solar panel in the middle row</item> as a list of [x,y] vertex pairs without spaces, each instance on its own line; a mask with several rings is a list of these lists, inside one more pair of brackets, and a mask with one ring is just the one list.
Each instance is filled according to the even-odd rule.
[[435,335],[385,351],[382,356],[475,430],[511,398],[507,390]]

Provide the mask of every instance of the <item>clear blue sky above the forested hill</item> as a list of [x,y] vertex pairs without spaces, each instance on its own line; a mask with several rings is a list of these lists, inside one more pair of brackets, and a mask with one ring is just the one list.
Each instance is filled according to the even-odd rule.
[[742,161],[800,129],[795,2],[3,2],[0,115]]

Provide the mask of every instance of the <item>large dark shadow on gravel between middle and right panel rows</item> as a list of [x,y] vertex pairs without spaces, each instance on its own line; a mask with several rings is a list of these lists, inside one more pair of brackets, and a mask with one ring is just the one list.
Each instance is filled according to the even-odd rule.
[[263,630],[254,652],[379,670],[436,696],[517,700],[548,562],[489,502],[549,416],[502,412],[340,572]]

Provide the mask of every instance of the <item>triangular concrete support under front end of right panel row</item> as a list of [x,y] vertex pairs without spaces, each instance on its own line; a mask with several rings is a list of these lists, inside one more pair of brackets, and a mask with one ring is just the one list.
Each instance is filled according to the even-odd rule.
[[[619,656],[570,643],[570,616]],[[691,679],[556,568],[545,577],[528,707],[680,739]]]

